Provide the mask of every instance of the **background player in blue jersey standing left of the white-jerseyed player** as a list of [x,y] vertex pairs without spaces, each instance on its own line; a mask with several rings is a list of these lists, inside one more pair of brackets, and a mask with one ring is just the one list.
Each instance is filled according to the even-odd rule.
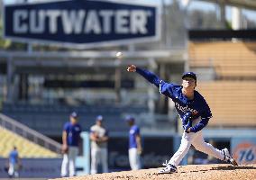
[[63,161],[61,165],[61,176],[67,176],[69,164],[69,176],[76,174],[76,157],[78,156],[78,144],[80,142],[81,126],[78,124],[78,113],[72,112],[69,121],[65,123],[62,132]]

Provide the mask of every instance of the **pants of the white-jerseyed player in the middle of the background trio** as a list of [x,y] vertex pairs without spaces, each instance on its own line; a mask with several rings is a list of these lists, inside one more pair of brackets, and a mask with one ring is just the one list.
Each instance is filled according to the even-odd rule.
[[97,166],[102,165],[103,173],[108,172],[107,165],[107,148],[92,148],[91,149],[91,174],[97,173]]

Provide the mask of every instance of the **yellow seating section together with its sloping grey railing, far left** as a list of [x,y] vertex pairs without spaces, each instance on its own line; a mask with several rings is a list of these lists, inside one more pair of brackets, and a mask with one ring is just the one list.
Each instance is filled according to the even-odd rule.
[[[0,157],[8,157],[14,146],[20,157],[59,157],[60,144],[0,114]],[[54,149],[54,150],[53,150]]]

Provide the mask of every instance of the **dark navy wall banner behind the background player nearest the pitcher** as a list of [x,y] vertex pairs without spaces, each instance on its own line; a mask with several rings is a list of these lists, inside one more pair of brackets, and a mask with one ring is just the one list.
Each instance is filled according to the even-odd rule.
[[[109,140],[108,165],[111,171],[131,170],[128,144],[128,137],[115,137]],[[142,137],[142,147],[142,168],[159,167],[173,154],[173,138]]]

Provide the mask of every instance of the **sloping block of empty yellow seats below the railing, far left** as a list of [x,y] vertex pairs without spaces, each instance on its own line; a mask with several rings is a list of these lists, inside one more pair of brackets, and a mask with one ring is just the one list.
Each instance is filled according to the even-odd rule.
[[8,157],[14,146],[18,149],[20,157],[58,157],[55,152],[43,148],[32,141],[18,136],[10,130],[0,126],[0,157]]

